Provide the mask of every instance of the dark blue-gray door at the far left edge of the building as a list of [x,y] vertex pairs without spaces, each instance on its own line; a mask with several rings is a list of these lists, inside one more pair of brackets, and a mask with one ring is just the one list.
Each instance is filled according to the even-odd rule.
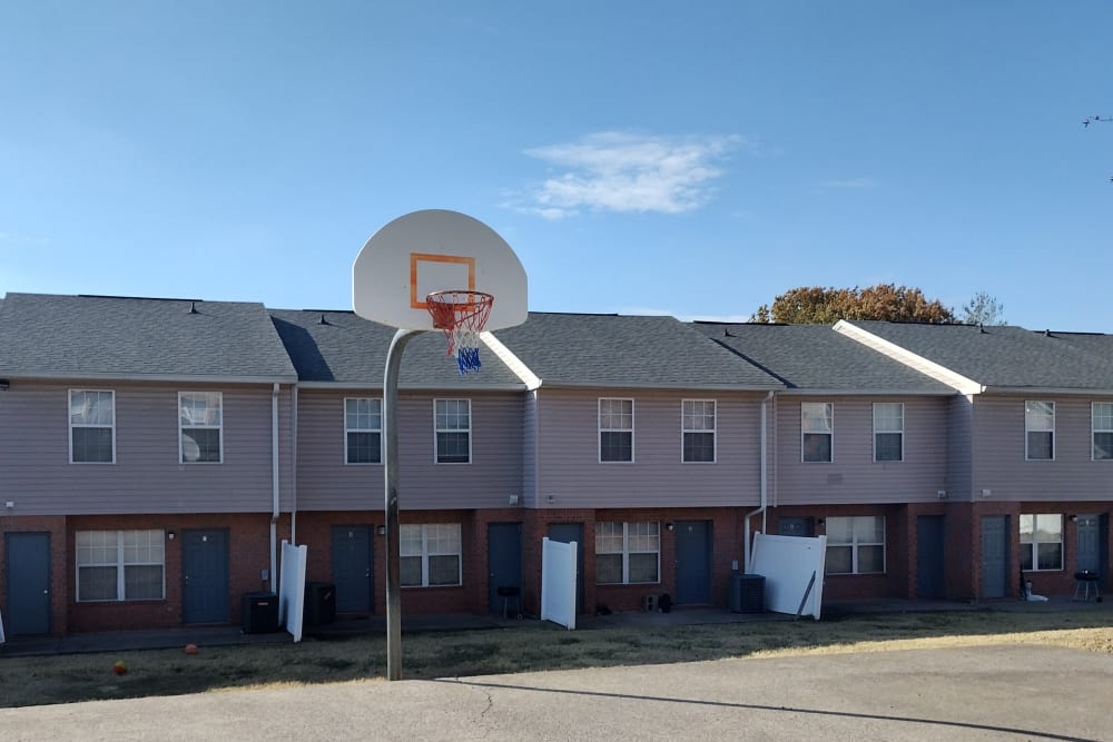
[[50,534],[8,533],[4,538],[8,607],[4,633],[50,633]]

